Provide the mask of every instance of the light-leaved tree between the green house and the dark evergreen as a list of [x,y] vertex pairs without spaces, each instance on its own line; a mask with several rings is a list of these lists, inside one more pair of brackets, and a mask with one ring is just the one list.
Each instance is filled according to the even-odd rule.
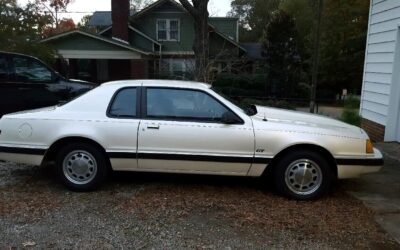
[[264,27],[282,0],[233,0],[228,16],[239,18],[242,42],[260,41]]

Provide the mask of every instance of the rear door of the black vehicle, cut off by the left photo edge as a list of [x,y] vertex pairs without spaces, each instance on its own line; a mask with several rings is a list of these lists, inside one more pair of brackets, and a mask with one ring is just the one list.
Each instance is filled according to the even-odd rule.
[[0,53],[0,117],[23,107],[19,86],[13,82],[10,73],[9,55]]

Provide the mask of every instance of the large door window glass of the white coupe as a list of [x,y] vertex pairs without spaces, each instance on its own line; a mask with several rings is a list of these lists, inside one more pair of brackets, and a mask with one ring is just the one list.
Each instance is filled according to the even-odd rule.
[[210,95],[196,90],[147,89],[147,117],[219,122],[228,109]]

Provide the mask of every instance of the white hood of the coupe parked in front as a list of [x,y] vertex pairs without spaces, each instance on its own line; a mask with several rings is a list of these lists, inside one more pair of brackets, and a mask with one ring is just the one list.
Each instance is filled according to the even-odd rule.
[[365,137],[365,132],[361,128],[326,116],[263,106],[256,106],[256,108],[257,114],[253,116],[253,120],[279,124],[279,128],[282,129],[357,138]]

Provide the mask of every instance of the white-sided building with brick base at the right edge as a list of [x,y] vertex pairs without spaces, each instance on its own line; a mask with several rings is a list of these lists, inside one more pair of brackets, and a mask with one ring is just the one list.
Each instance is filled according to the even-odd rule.
[[400,1],[371,0],[360,114],[375,141],[400,142]]

